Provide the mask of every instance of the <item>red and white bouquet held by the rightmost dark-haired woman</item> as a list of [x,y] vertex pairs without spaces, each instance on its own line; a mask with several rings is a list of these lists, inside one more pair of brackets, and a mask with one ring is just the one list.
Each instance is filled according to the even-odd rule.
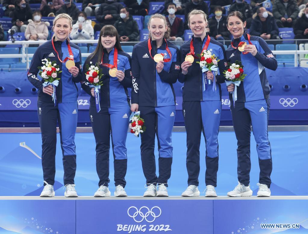
[[237,86],[240,86],[241,81],[244,80],[246,74],[243,70],[243,65],[240,61],[235,61],[235,63],[228,63],[228,69],[224,71],[226,77],[226,85],[229,86],[234,84],[234,92],[233,94],[233,107],[235,106],[235,101],[237,100]]

